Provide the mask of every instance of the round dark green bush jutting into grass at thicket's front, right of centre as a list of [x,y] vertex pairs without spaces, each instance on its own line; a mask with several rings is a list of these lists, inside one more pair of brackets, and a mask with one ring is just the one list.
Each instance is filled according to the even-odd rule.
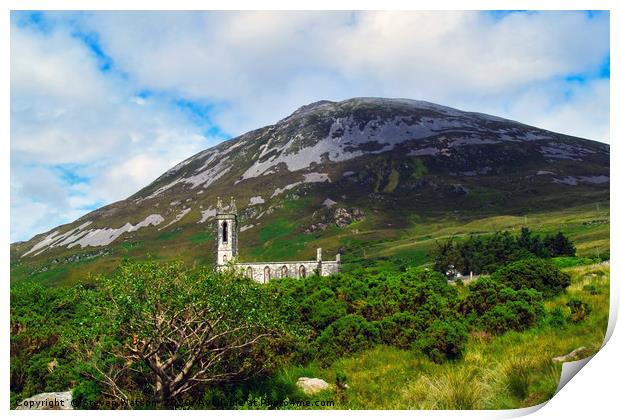
[[466,338],[467,329],[462,320],[437,320],[422,333],[418,346],[431,360],[442,363],[461,357]]

